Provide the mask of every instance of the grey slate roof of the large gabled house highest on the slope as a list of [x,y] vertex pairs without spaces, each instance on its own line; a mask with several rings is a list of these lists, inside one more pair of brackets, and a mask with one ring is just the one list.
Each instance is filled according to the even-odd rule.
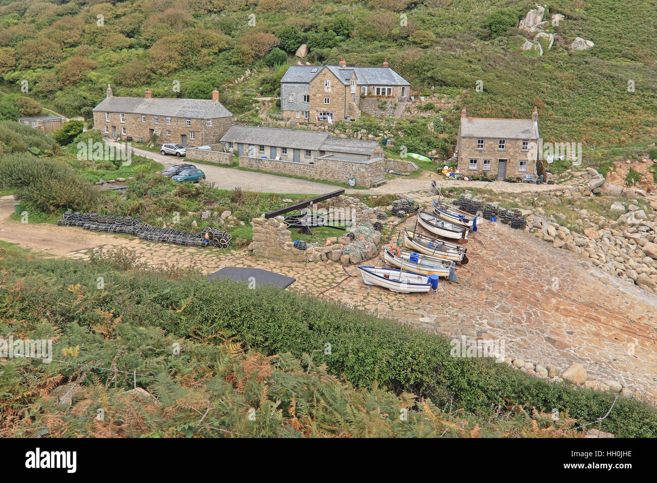
[[[411,85],[390,67],[341,67],[341,66],[290,66],[281,82],[308,83],[324,68],[330,70],[344,85],[349,84],[351,74],[355,72],[358,83],[368,85]],[[317,69],[317,72],[312,72]]]

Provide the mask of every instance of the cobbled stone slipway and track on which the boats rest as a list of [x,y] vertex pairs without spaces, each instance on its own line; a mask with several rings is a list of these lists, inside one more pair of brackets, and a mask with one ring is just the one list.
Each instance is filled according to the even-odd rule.
[[[225,265],[270,269],[295,277],[291,288],[296,290],[434,333],[505,339],[507,356],[551,363],[562,370],[579,362],[589,379],[618,381],[629,392],[636,390],[653,401],[657,397],[657,296],[501,223],[484,221],[478,233],[470,235],[470,263],[459,268],[456,283],[441,280],[438,292],[428,294],[396,294],[363,285],[355,267],[334,262],[283,264],[246,250],[225,254],[77,228],[18,227],[7,216],[5,209],[0,239],[34,251],[84,259],[91,248],[125,246],[150,264],[179,262],[204,273]],[[392,239],[401,226],[413,227],[414,219],[391,227]]]

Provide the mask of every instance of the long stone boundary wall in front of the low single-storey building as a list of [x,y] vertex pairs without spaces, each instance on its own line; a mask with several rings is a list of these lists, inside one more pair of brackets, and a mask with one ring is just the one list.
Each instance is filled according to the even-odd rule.
[[306,164],[269,158],[239,157],[240,168],[302,176],[309,179],[328,179],[328,181],[336,181],[337,183],[348,183],[348,179],[353,177],[356,185],[366,188],[372,187],[375,181],[382,179],[386,171],[386,160],[384,158],[364,162],[328,158],[315,158],[314,161],[315,164]]

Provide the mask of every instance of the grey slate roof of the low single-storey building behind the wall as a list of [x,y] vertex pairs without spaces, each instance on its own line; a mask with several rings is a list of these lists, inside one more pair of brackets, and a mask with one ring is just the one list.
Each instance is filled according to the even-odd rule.
[[303,129],[235,125],[231,126],[221,137],[221,142],[367,155],[373,154],[374,149],[380,146],[376,141],[341,139],[332,137],[328,133],[304,131]]

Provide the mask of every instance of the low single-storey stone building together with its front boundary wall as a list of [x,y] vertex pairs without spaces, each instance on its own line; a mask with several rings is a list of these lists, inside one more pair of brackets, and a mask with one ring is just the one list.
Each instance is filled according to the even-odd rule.
[[386,159],[376,141],[279,127],[231,126],[221,137],[240,166],[360,186],[384,183]]

